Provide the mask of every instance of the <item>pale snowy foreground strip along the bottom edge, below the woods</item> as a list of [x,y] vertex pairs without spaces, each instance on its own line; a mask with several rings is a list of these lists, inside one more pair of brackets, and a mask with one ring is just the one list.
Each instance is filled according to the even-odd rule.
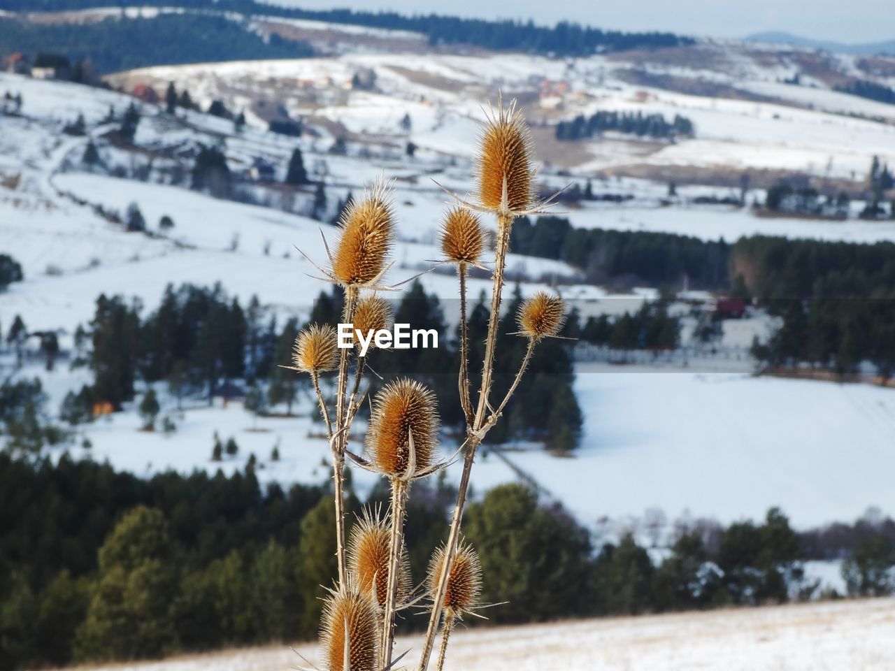
[[[895,599],[460,629],[445,669],[487,671],[889,671]],[[398,637],[415,663],[421,640]],[[313,660],[316,646],[295,648]],[[104,671],[270,671],[303,666],[286,645],[225,650]]]

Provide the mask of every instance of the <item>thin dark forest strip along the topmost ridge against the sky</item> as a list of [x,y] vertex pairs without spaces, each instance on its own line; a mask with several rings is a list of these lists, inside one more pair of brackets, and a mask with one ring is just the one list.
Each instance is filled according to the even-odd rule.
[[[11,11],[62,11],[105,6],[101,0],[9,0]],[[638,48],[678,47],[694,44],[669,32],[622,32],[601,30],[569,21],[540,26],[533,21],[488,21],[442,14],[395,12],[357,12],[349,9],[311,10],[263,4],[254,0],[150,0],[145,6],[179,6],[196,10],[236,12],[246,16],[281,16],[311,19],[387,30],[410,30],[425,35],[433,46],[466,44],[495,50],[526,51],[547,55],[591,55],[597,51],[623,51]],[[231,60],[231,59],[226,59]]]

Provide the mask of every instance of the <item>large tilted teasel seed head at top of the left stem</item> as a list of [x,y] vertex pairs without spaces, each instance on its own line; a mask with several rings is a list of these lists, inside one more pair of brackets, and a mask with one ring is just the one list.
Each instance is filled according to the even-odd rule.
[[375,183],[361,199],[352,200],[339,219],[339,227],[333,276],[343,285],[372,282],[385,268],[395,235],[395,211],[385,183]]

